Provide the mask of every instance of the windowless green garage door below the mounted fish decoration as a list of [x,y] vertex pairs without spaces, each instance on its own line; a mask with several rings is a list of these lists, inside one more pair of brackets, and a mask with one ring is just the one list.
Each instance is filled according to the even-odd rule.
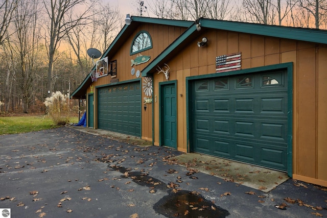
[[139,82],[98,89],[98,128],[141,137]]

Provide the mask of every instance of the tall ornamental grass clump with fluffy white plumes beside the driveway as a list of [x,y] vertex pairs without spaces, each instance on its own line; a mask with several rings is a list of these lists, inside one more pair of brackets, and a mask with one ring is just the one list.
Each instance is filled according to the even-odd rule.
[[70,108],[68,100],[69,94],[64,95],[60,91],[56,91],[44,101],[46,110],[56,125],[63,126],[69,122]]

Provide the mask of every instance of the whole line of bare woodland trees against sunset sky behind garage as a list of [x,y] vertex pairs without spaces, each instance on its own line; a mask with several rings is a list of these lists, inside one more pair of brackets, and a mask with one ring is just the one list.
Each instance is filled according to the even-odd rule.
[[[44,112],[55,91],[72,93],[124,25],[104,0],[0,0],[0,112]],[[107,1],[108,2],[108,1]],[[327,29],[327,0],[135,0],[134,15],[200,17]],[[133,13],[132,13],[133,14]]]

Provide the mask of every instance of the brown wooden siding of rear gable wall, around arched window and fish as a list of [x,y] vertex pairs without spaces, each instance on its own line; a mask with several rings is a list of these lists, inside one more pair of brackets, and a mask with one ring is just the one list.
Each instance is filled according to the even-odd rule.
[[[142,70],[146,64],[150,63],[158,54],[160,54],[166,47],[168,47],[177,37],[180,36],[185,31],[185,28],[180,27],[171,27],[165,25],[152,25],[144,23],[140,25],[133,34],[131,34],[126,42],[121,46],[121,49],[116,52],[112,58],[108,61],[117,60],[117,77],[111,78],[111,76],[106,76],[99,78],[97,82],[93,82],[94,93],[95,93],[95,128],[98,128],[98,118],[97,118],[97,89],[96,86],[110,85],[111,80],[118,79],[119,82],[130,81],[137,79],[136,76],[131,75],[131,59],[135,59],[139,54],[129,55],[130,47],[134,36],[142,30],[149,32],[152,38],[153,48],[147,51],[142,52],[143,56],[150,56],[150,60],[147,63],[133,65],[132,67],[136,70]],[[110,53],[110,52],[109,52]],[[164,75],[160,75],[164,77]],[[138,78],[143,85],[143,78]],[[141,85],[141,89],[143,90]],[[87,90],[87,93],[90,92],[90,87]],[[142,91],[142,99],[145,97],[144,92]],[[152,104],[147,105],[147,109],[144,110],[142,105],[142,138],[146,140],[152,140]]]

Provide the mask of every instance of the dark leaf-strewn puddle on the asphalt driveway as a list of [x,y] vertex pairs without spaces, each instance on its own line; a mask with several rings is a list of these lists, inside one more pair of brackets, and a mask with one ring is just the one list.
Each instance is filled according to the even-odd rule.
[[[150,188],[150,193],[157,189],[167,190],[168,195],[159,200],[153,209],[156,213],[166,217],[215,217],[223,218],[229,215],[227,210],[217,207],[206,200],[197,191],[176,189],[175,186],[165,184],[158,179],[142,172],[131,172],[131,169],[122,166],[110,166],[113,170],[121,172],[121,178],[130,178],[136,184]],[[171,187],[171,188],[169,188]]]

